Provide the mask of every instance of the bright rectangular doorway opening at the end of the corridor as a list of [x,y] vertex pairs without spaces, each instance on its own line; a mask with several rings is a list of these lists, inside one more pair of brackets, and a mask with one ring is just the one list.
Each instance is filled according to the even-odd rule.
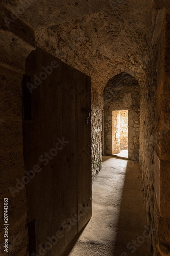
[[128,110],[112,111],[112,154],[128,158]]

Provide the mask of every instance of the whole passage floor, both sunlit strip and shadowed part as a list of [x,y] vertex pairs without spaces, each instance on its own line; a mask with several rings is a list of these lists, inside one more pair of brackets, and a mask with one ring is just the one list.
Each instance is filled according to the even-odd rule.
[[138,163],[103,157],[92,199],[93,216],[69,256],[150,256]]

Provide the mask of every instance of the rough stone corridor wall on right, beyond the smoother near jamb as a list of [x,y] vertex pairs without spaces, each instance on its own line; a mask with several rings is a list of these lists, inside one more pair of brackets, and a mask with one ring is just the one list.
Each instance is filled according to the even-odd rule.
[[[150,63],[150,67],[153,64]],[[152,66],[153,67],[153,66]],[[150,249],[155,256],[157,252],[155,236],[158,215],[156,212],[156,198],[154,188],[154,129],[155,129],[155,107],[156,107],[156,73],[148,69],[147,83],[141,91],[141,116],[140,116],[140,168],[142,171],[144,200],[147,211],[147,224],[150,229]],[[151,79],[152,78],[152,79]],[[149,86],[148,86],[149,84]],[[150,118],[152,116],[152,118]]]

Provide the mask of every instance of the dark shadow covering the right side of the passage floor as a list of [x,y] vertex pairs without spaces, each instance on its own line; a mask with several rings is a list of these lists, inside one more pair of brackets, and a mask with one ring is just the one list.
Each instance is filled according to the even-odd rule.
[[150,256],[139,163],[127,161],[113,256]]

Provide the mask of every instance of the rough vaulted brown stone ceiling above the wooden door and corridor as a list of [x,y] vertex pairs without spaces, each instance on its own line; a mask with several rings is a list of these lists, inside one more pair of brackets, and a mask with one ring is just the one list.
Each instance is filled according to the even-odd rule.
[[[144,79],[156,19],[152,0],[2,0],[1,5],[0,46],[6,52],[17,52],[24,38],[91,76],[99,93],[120,72]],[[9,26],[4,17],[11,19]]]

